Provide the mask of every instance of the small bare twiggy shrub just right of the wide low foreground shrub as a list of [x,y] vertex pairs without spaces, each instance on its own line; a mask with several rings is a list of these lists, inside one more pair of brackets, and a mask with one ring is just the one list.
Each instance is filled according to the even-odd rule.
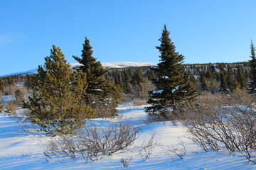
[[156,133],[152,133],[151,137],[149,138],[149,140],[144,140],[141,147],[143,150],[143,154],[140,153],[142,156],[145,157],[145,159],[149,159],[149,157],[152,154],[152,149],[154,149],[154,147],[159,146],[159,142],[157,142],[155,140],[155,135]]

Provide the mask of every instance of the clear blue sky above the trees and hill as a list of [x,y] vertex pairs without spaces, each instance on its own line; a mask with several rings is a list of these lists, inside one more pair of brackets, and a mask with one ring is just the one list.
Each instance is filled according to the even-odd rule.
[[166,24],[185,63],[250,60],[254,0],[1,0],[0,75],[34,69],[60,47],[68,62],[85,36],[101,62],[159,62]]

